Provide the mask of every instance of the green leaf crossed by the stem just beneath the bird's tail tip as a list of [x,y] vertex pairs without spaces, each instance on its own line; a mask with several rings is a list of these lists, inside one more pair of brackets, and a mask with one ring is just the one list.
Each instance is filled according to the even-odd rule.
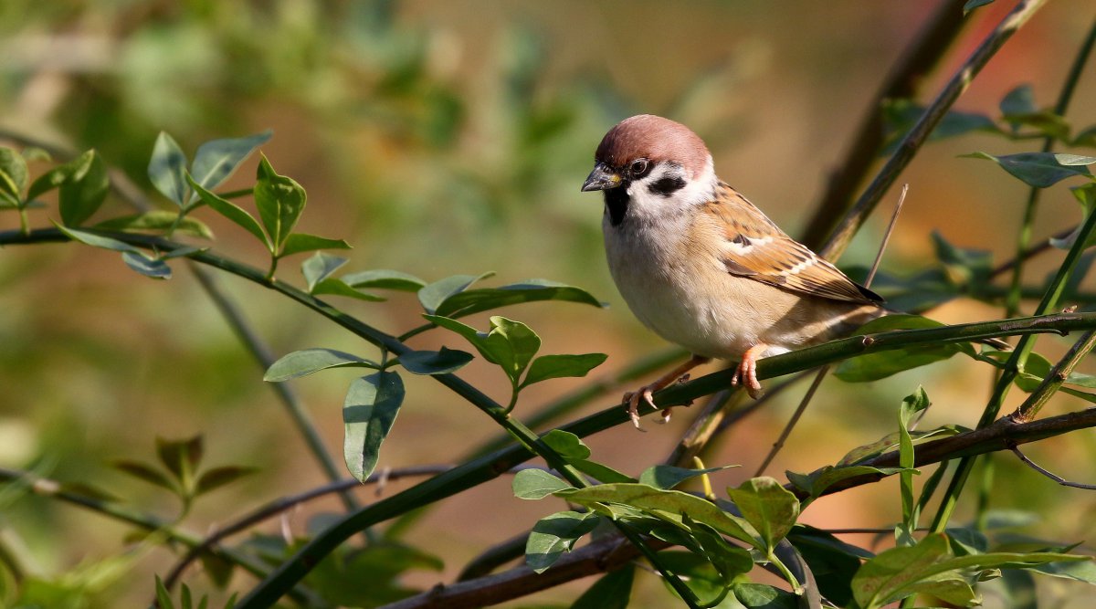
[[[874,334],[890,330],[915,330],[922,328],[940,328],[944,324],[920,315],[891,314],[861,325],[857,334]],[[846,382],[865,382],[879,380],[898,372],[926,366],[948,359],[957,353],[973,355],[974,351],[968,343],[950,343],[945,345],[915,345],[886,353],[869,353],[842,361],[834,376]]]

